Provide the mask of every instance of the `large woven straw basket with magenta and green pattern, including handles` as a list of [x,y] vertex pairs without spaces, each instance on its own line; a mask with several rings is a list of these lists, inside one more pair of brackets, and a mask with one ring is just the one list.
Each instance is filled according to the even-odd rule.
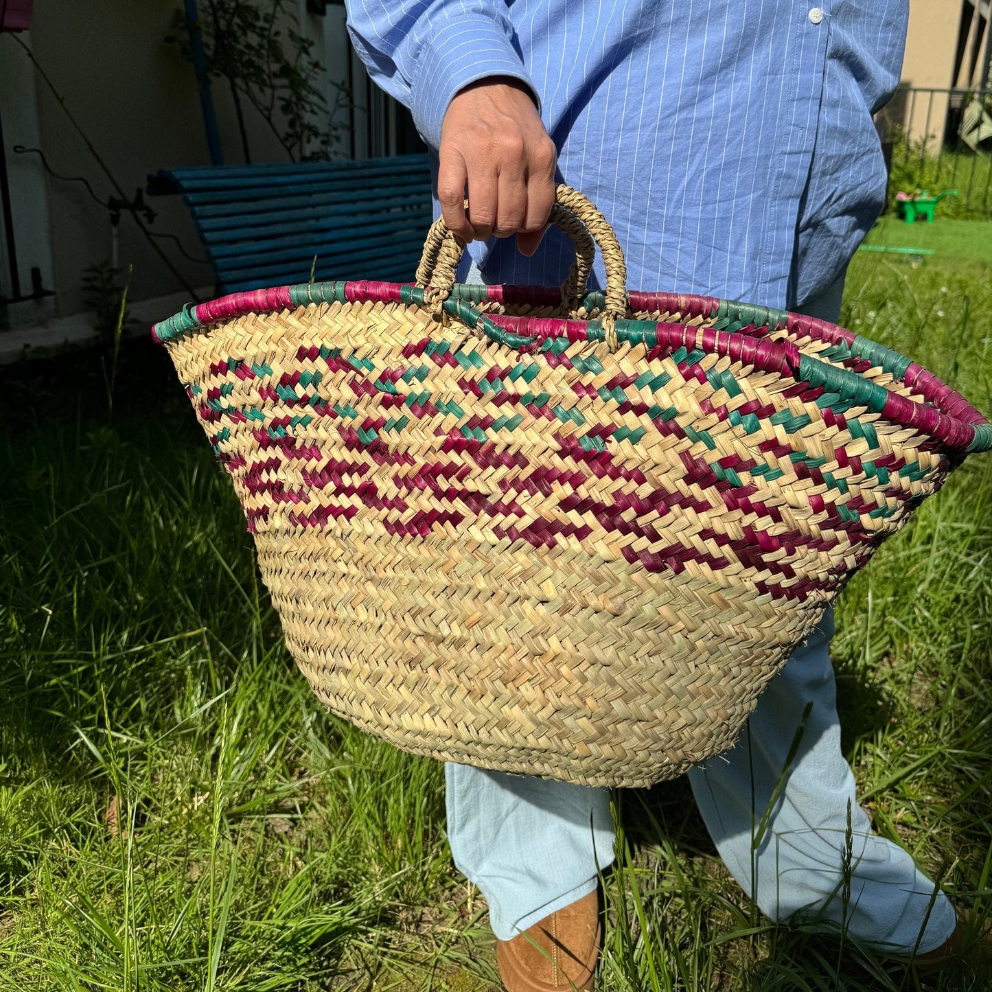
[[[399,747],[644,786],[733,744],[850,575],[990,427],[821,320],[625,293],[561,186],[561,288],[236,294],[158,324],[286,643]],[[593,239],[607,271],[586,294]]]

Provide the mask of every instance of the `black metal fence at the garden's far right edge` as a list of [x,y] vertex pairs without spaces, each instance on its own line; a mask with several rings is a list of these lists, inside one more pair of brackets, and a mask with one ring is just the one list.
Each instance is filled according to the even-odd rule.
[[900,186],[956,189],[949,215],[992,216],[992,89],[901,86],[876,121],[890,199]]

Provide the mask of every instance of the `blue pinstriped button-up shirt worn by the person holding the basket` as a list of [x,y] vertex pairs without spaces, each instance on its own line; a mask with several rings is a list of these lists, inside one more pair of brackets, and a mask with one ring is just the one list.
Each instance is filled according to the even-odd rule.
[[[463,86],[528,83],[561,179],[616,229],[630,289],[795,309],[843,269],[881,206],[871,114],[899,81],[908,0],[347,7],[372,78],[434,149]],[[555,284],[571,249],[557,231],[545,241],[533,259],[513,239],[471,252],[487,281]]]

